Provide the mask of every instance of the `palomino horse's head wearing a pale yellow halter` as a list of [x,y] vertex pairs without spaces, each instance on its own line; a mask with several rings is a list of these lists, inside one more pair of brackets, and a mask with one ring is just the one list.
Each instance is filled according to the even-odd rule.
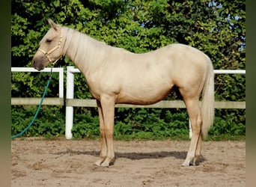
[[40,47],[32,60],[33,67],[39,71],[43,70],[48,64],[55,64],[62,55],[61,42],[63,36],[61,25],[57,25],[52,19],[49,19],[48,22],[52,28],[40,41]]

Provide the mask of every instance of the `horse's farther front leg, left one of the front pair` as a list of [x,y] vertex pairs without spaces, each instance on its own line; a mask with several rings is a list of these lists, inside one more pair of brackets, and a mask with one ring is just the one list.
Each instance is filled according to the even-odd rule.
[[99,112],[99,120],[100,120],[100,159],[95,162],[95,165],[100,166],[107,156],[107,144],[105,137],[105,127],[103,120],[103,109],[101,107],[100,101],[97,100],[97,107]]

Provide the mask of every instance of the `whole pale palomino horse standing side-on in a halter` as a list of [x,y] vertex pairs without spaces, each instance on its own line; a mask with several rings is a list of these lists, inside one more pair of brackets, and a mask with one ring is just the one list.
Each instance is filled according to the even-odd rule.
[[[214,117],[213,64],[198,49],[172,44],[153,52],[135,54],[94,40],[85,34],[57,25],[40,41],[33,66],[43,70],[67,55],[84,74],[91,95],[97,99],[100,118],[100,159],[96,165],[114,161],[114,111],[116,103],[148,105],[168,96],[176,86],[189,114],[192,139],[183,166],[195,165],[201,155]],[[199,102],[202,93],[202,104]]]

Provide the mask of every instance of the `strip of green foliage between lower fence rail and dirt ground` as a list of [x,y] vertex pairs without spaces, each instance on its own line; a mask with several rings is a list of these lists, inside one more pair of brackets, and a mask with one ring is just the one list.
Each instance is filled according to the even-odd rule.
[[[22,132],[34,117],[37,107],[12,107],[12,135]],[[117,139],[189,138],[186,109],[115,108]],[[216,109],[209,135],[225,138],[246,135],[246,110]],[[75,108],[74,138],[99,138],[99,117],[95,108]],[[34,124],[23,136],[58,136],[65,132],[64,107],[43,106]]]

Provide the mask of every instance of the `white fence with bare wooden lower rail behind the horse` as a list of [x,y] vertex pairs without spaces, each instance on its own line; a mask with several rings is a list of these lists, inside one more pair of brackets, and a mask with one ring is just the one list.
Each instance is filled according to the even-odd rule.
[[[38,72],[32,67],[12,67],[12,72]],[[41,72],[50,72],[51,68],[45,68]],[[67,67],[67,89],[66,99],[64,98],[64,70],[63,68],[53,68],[52,72],[59,73],[59,98],[45,98],[43,105],[64,105],[66,104],[66,126],[65,136],[67,139],[73,137],[71,129],[73,127],[73,107],[97,107],[95,99],[74,99],[74,73],[80,73],[75,67]],[[246,74],[246,70],[214,70],[215,74]],[[48,102],[47,102],[48,100]],[[54,102],[55,101],[55,102]],[[38,105],[40,98],[11,98],[11,105]],[[180,100],[163,100],[153,105],[126,105],[117,104],[115,107],[125,108],[186,108],[183,101]],[[215,102],[215,108],[246,108],[246,102]],[[189,124],[189,136],[192,131]]]

